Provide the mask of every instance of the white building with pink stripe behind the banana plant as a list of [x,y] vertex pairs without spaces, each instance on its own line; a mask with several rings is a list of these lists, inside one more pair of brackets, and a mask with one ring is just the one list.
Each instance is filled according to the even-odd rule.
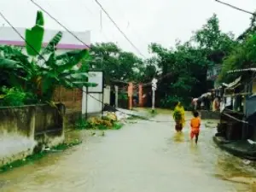
[[[26,28],[17,28],[17,31],[25,38]],[[47,45],[51,38],[59,31],[55,30],[44,30],[44,45]],[[84,44],[79,42],[79,40],[73,37],[72,34],[66,31],[62,31],[63,36],[61,42],[56,46],[57,54],[64,53],[73,49],[88,49],[84,44],[90,46],[90,31],[84,32],[73,32],[79,39],[81,39]],[[25,47],[25,42],[11,27],[0,27],[0,45],[14,45],[19,47]],[[25,49],[24,49],[25,51]]]

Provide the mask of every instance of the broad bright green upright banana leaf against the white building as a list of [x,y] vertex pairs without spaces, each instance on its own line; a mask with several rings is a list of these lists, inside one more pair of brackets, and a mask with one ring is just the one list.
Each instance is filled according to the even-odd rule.
[[26,53],[36,56],[42,49],[44,39],[44,27],[33,26],[32,29],[26,29]]

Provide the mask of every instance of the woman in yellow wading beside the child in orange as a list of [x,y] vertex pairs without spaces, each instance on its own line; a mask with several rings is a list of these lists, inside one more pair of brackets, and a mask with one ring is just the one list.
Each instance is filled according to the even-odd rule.
[[175,129],[177,132],[183,130],[183,126],[185,125],[185,110],[181,104],[181,102],[177,102],[176,107],[173,111],[173,119],[176,122]]

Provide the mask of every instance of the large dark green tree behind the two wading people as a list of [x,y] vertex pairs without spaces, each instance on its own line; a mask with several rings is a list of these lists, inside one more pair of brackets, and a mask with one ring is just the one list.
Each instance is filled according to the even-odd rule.
[[151,44],[149,50],[160,71],[158,78],[171,74],[159,82],[158,104],[172,107],[180,101],[188,107],[191,97],[201,96],[212,88],[207,70],[222,64],[235,45],[232,33],[221,32],[217,15],[212,15],[188,42],[177,41],[171,49]]

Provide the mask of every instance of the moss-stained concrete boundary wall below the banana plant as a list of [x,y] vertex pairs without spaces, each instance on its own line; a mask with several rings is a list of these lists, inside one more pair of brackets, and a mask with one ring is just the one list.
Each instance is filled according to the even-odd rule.
[[34,148],[64,141],[64,106],[0,108],[0,166],[32,154]]

